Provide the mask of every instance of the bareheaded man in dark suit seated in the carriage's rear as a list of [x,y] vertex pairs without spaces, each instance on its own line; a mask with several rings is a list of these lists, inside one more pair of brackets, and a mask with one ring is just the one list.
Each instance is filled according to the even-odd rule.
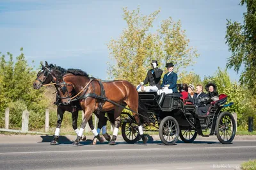
[[204,93],[203,86],[198,84],[196,86],[196,93],[193,96],[193,101],[196,106],[196,114],[199,116],[205,116],[210,107],[211,99]]

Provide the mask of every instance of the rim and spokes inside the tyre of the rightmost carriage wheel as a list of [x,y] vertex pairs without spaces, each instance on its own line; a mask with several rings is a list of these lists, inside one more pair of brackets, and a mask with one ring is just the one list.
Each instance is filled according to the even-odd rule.
[[234,124],[232,123],[232,119],[229,115],[224,115],[221,117],[218,128],[220,137],[223,141],[229,141],[232,138],[232,135],[234,133],[233,127]]

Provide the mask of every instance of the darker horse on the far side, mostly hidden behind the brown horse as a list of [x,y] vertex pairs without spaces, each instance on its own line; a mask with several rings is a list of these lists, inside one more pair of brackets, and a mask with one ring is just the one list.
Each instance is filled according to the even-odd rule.
[[[41,63],[42,65],[42,63]],[[60,66],[54,66],[54,65],[48,65],[47,61],[45,61],[45,66],[42,65],[42,69],[38,72],[37,77],[35,82],[33,83],[34,89],[40,89],[42,86],[49,84],[52,82],[56,88],[56,102],[54,104],[57,105],[57,125],[56,125],[56,130],[54,134],[54,138],[51,141],[51,145],[56,145],[58,144],[58,138],[60,134],[60,128],[61,128],[61,123],[63,120],[63,114],[65,111],[71,112],[72,113],[72,127],[76,134],[78,134],[79,129],[77,128],[77,118],[78,118],[78,112],[81,109],[81,106],[79,102],[72,102],[69,105],[63,105],[61,104],[60,100],[60,91],[58,89],[58,86],[56,86],[56,81],[57,79],[60,79],[61,74],[65,73],[65,68],[61,68]],[[103,114],[103,113],[102,113]],[[113,116],[109,115],[109,118],[113,121]],[[99,118],[99,117],[98,117]],[[108,133],[106,133],[106,122],[108,121],[108,118],[106,118],[103,114],[103,116],[100,116],[99,118],[99,123],[98,123],[98,129],[97,132],[100,133],[100,129],[102,128],[103,136],[107,141],[110,141],[110,136]],[[89,120],[89,126],[93,130],[93,123],[92,123],[92,118]],[[82,141],[86,140],[86,137],[82,135],[81,138]],[[100,143],[103,143],[102,139],[99,139]],[[93,144],[96,144],[95,139],[93,139]]]

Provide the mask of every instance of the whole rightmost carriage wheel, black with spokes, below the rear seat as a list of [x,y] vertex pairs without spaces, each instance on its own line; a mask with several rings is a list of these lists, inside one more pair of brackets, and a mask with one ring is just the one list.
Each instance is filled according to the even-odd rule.
[[217,138],[220,143],[229,144],[236,135],[236,121],[230,112],[221,112],[216,126]]

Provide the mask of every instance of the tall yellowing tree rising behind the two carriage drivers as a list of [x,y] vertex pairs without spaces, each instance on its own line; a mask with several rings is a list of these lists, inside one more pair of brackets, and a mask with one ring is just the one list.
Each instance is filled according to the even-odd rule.
[[[189,47],[186,31],[181,29],[181,22],[173,22],[172,18],[163,20],[156,33],[150,29],[159,14],[157,10],[150,15],[141,15],[140,8],[132,10],[123,8],[123,19],[127,23],[117,40],[108,43],[110,50],[108,75],[111,79],[125,79],[137,84],[145,79],[150,68],[150,61],[157,59],[159,67],[164,68],[166,62],[172,61],[175,71],[193,64],[198,57],[197,51]],[[165,70],[165,69],[164,69]]]

